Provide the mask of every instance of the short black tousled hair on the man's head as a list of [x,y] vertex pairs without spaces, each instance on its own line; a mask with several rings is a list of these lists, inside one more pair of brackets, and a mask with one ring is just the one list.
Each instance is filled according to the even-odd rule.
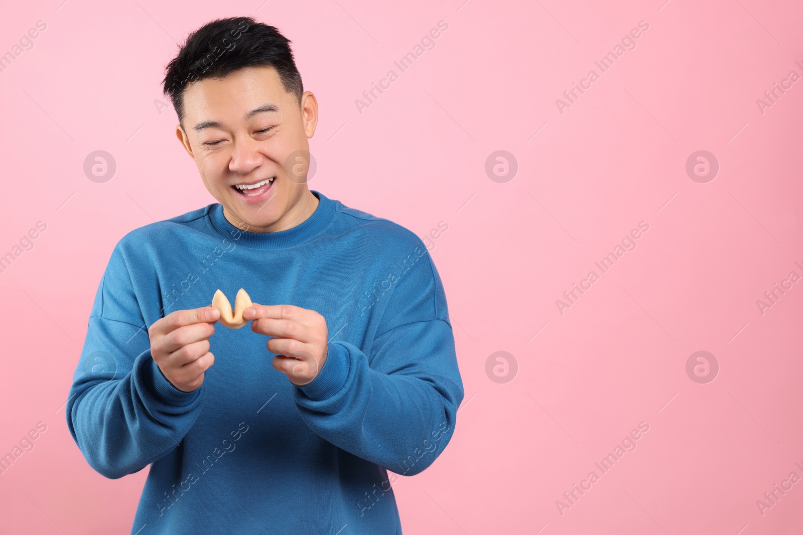
[[295,93],[300,105],[304,85],[290,43],[274,26],[251,17],[218,18],[195,30],[167,64],[162,82],[178,121],[183,125],[182,95],[187,84],[220,78],[243,67],[274,67],[284,90]]

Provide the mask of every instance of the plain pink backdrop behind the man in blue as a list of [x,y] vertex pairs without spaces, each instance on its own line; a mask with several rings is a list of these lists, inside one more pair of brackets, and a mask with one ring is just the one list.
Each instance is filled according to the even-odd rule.
[[[0,72],[0,255],[47,225],[0,274],[0,455],[47,424],[0,475],[0,532],[131,527],[147,470],[93,472],[63,404],[116,241],[214,202],[172,107],[157,107],[160,81],[175,41],[244,14],[294,42],[319,99],[310,187],[422,238],[448,225],[431,254],[466,399],[443,455],[394,485],[405,533],[801,532],[803,483],[756,505],[803,477],[803,284],[756,305],[803,276],[803,81],[756,104],[803,75],[799,2],[61,2],[8,2],[0,18],[0,54],[47,23]],[[357,111],[440,20],[434,50]],[[601,73],[594,61],[642,20]],[[83,171],[99,149],[117,164],[103,184]],[[519,165],[506,183],[485,172],[497,150]],[[686,172],[699,150],[719,161],[705,184]],[[639,221],[637,249],[561,315],[556,299]],[[495,351],[516,360],[512,381],[487,375]],[[719,362],[712,382],[687,375],[695,351]],[[601,474],[594,462],[640,422],[638,448]]]

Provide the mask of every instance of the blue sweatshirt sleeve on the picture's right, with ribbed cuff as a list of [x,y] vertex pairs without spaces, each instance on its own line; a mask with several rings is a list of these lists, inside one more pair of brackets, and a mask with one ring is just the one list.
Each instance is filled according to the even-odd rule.
[[294,389],[302,418],[347,452],[398,474],[430,466],[449,443],[463,400],[438,271],[421,243],[393,282],[369,354],[332,341],[319,374]]

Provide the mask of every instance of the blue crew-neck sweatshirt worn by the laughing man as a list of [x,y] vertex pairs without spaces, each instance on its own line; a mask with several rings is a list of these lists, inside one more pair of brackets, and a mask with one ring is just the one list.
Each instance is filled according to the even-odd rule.
[[[291,229],[243,232],[214,203],[113,249],[67,426],[106,477],[151,465],[132,533],[402,533],[388,471],[430,466],[463,400],[446,296],[414,233],[312,193],[316,211]],[[267,336],[218,322],[202,386],[177,389],[149,327],[240,288],[324,316],[319,375],[293,385]]]

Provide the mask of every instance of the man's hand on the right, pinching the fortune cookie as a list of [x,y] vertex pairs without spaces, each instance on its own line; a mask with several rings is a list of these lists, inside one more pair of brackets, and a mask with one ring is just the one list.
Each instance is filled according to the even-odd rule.
[[267,351],[276,354],[273,367],[291,383],[304,386],[317,377],[328,349],[326,318],[300,306],[259,303],[243,310],[243,318],[253,320],[255,333],[273,337],[267,341]]

